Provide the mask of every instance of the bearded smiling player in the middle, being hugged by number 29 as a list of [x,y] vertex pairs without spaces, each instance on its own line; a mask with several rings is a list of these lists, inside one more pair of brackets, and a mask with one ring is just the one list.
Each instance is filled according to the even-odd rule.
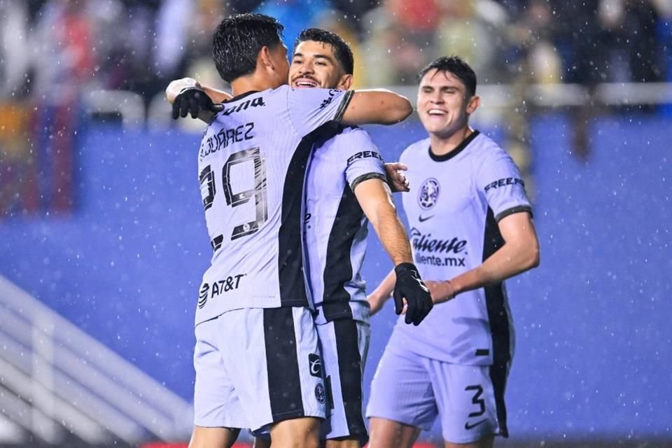
[[[349,89],[353,57],[342,38],[323,29],[305,29],[294,46],[291,87]],[[196,83],[183,79],[178,85]],[[216,101],[229,97],[226,92],[202,88]],[[184,106],[191,109],[187,102]],[[195,110],[193,115],[200,112]],[[403,187],[400,183],[396,188]],[[379,150],[357,127],[341,127],[335,137],[316,144],[305,202],[307,272],[324,363],[317,360],[314,372],[321,374],[323,367],[330,398],[330,418],[323,424],[322,438],[328,447],[359,447],[367,440],[362,373],[370,335],[369,306],[360,278],[367,218],[395,265],[412,259],[410,246],[386,186]],[[255,447],[267,443],[262,438]]]

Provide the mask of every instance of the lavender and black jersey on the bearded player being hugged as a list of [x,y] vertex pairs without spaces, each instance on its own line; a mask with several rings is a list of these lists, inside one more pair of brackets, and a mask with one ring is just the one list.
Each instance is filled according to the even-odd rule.
[[305,243],[317,323],[336,318],[366,321],[367,218],[353,193],[367,179],[386,181],[383,158],[369,134],[344,127],[316,146],[306,180]]

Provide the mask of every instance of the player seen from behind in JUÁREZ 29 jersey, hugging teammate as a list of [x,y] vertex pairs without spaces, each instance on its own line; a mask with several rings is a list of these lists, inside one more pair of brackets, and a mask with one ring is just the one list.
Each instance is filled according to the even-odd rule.
[[[410,113],[387,91],[292,90],[281,30],[244,14],[214,34],[215,64],[234,96],[211,117],[198,158],[214,254],[195,319],[191,447],[230,447],[240,428],[269,430],[280,447],[318,446],[326,390],[302,272],[305,167],[338,123],[392,124]],[[181,95],[206,98],[191,88],[179,104]],[[418,323],[428,292],[410,263],[396,269],[398,301]]]

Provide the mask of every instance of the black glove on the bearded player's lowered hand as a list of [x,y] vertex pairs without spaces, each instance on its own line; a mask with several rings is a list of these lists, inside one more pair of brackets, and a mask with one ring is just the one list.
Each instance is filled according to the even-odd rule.
[[394,272],[397,274],[392,294],[394,311],[401,314],[404,309],[403,299],[406,299],[406,323],[418,325],[434,306],[432,296],[413,263],[400,263],[395,266]]

